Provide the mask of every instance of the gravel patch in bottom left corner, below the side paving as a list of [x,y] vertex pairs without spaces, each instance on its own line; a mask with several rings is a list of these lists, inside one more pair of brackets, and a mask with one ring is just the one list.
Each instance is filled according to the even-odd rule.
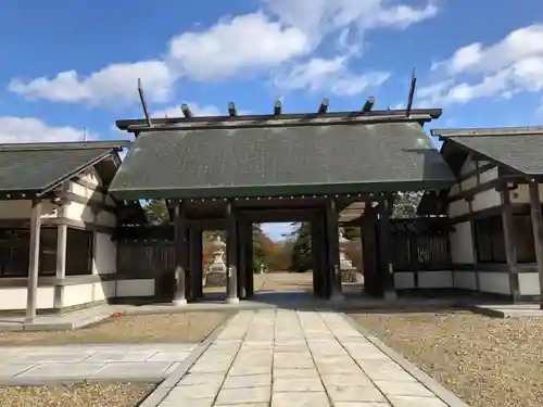
[[136,407],[155,387],[147,383],[81,383],[0,387],[2,407]]

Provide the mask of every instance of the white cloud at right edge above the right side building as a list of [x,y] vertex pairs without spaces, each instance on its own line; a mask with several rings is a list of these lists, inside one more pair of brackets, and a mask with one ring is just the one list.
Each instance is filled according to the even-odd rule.
[[444,79],[418,92],[431,104],[543,91],[543,25],[516,29],[488,47],[480,42],[462,47],[432,71]]

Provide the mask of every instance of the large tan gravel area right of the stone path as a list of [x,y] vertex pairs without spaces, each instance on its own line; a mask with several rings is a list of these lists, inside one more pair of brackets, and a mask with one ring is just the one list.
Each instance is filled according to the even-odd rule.
[[353,317],[472,407],[543,406],[543,318]]

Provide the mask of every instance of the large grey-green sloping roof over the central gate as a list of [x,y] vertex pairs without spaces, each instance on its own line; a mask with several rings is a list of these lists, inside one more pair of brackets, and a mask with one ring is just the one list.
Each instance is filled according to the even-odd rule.
[[142,132],[113,179],[117,199],[440,188],[454,181],[418,124]]

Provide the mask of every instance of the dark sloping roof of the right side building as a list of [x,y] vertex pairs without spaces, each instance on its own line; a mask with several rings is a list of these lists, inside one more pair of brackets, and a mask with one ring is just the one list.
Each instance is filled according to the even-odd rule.
[[543,135],[445,136],[457,144],[527,175],[543,175]]

